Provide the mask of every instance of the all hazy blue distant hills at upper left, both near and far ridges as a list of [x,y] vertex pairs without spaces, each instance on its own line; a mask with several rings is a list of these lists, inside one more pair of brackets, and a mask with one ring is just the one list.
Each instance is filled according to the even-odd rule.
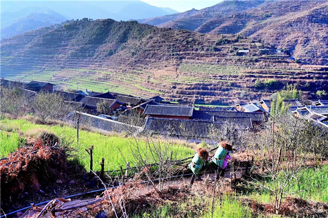
[[115,20],[162,16],[177,11],[140,1],[2,1],[1,38],[84,17]]

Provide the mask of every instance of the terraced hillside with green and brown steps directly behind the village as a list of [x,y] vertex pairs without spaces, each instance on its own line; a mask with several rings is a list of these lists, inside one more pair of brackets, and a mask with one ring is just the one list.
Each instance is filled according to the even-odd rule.
[[0,49],[2,77],[66,89],[215,104],[258,100],[287,83],[312,96],[328,89],[326,66],[296,63],[267,42],[136,21],[74,20],[3,39]]

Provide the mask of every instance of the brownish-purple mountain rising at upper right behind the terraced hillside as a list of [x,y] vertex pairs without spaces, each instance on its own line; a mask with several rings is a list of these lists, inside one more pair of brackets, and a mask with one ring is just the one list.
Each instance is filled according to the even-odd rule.
[[304,63],[328,58],[328,1],[224,1],[139,23],[200,33],[242,33],[289,51]]

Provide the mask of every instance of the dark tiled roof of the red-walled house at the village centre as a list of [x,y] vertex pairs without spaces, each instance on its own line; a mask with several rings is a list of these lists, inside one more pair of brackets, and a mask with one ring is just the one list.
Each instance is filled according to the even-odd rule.
[[193,111],[194,107],[189,106],[147,105],[144,114],[192,117]]

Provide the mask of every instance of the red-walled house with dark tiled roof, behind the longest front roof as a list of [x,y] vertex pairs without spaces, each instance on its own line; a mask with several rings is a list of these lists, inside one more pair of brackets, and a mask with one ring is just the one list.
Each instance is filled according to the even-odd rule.
[[144,114],[149,117],[171,118],[171,119],[192,119],[194,107],[191,106],[167,106],[167,105],[147,105]]

